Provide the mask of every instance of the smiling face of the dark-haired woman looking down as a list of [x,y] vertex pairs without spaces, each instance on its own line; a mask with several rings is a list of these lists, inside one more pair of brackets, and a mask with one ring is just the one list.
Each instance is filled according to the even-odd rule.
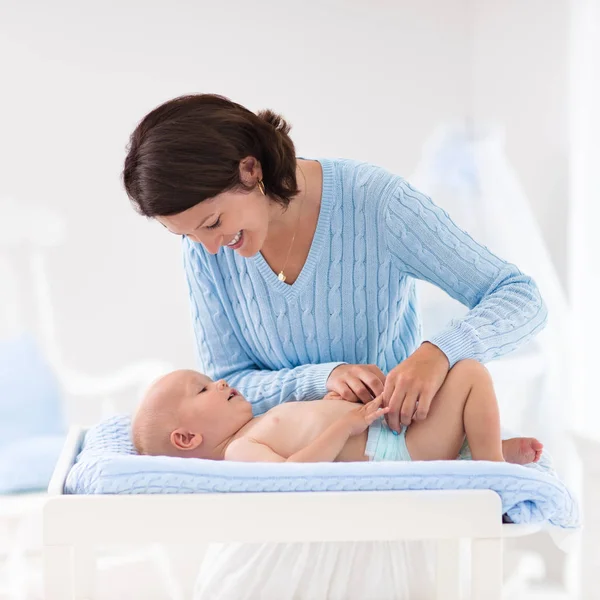
[[176,215],[156,217],[169,231],[199,242],[211,254],[221,246],[248,258],[260,252],[273,211],[258,188],[223,192]]

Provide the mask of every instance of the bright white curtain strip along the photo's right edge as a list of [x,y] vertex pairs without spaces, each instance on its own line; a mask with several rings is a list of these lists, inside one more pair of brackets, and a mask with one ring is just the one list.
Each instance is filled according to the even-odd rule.
[[[600,394],[600,0],[572,0],[570,296],[575,427],[598,435]],[[569,402],[571,404],[571,402]]]

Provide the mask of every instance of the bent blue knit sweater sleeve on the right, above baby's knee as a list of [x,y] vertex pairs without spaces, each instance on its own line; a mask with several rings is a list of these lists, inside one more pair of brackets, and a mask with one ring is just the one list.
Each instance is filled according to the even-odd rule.
[[429,341],[450,367],[465,358],[487,362],[528,342],[547,310],[531,277],[457,227],[430,198],[398,179],[385,204],[385,234],[399,268],[467,306],[462,318]]

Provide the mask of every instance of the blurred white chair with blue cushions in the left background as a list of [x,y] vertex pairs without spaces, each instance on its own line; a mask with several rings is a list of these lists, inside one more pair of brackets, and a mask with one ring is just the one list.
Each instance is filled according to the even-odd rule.
[[[65,397],[73,398],[72,412],[79,422],[96,421],[117,411],[116,399],[137,397],[157,376],[172,370],[162,361],[128,365],[115,373],[92,376],[71,368],[63,358],[55,330],[51,285],[46,260],[52,248],[62,244],[66,227],[60,215],[43,206],[25,205],[0,197],[0,337],[29,331],[36,338],[55,372]],[[29,305],[33,310],[23,310]],[[47,494],[0,496],[0,595],[11,600],[26,598],[34,573],[28,555],[41,551],[41,510]],[[168,571],[166,555],[151,547],[136,557],[151,559]],[[171,585],[168,581],[168,585]],[[173,596],[178,598],[177,595]]]

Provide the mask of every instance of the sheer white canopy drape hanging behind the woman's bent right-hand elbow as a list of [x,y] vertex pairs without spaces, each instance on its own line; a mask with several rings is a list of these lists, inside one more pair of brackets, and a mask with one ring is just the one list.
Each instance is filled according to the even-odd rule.
[[[477,241],[538,284],[551,315],[548,326],[526,347],[487,366],[503,425],[543,439],[557,470],[568,472],[569,424],[562,411],[568,395],[570,314],[540,227],[504,150],[502,127],[440,127],[411,180]],[[432,286],[419,282],[417,290],[425,335],[467,310]]]

